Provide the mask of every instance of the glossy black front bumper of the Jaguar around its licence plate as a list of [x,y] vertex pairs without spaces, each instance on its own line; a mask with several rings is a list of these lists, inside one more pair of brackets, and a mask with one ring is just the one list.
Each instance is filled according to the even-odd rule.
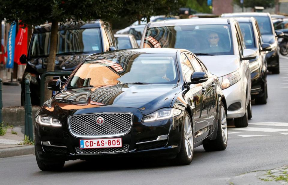
[[[99,109],[99,108],[98,108]],[[114,110],[113,110],[114,109]],[[117,108],[111,108],[111,112],[115,112]],[[181,127],[182,115],[176,118],[159,120],[153,122],[142,123],[142,113],[139,109],[122,108],[126,112],[131,112],[134,115],[133,125],[129,133],[122,138],[122,145],[129,145],[127,151],[116,153],[93,153],[79,154],[76,148],[79,147],[79,140],[88,138],[77,138],[72,136],[68,130],[67,120],[62,127],[46,127],[40,124],[35,124],[35,151],[41,160],[76,160],[76,159],[93,159],[103,157],[176,157],[180,150],[181,144]],[[62,122],[63,123],[63,122]],[[155,140],[158,136],[168,135],[168,139],[136,144]],[[93,139],[93,138],[89,138]],[[99,139],[99,138],[96,138]],[[49,141],[54,146],[43,145],[42,141]],[[58,147],[57,147],[58,146]],[[87,149],[82,149],[87,150]]]

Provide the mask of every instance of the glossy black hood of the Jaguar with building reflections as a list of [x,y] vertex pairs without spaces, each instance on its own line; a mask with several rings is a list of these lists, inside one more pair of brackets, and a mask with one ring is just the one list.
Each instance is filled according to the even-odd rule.
[[46,101],[42,110],[45,113],[95,107],[129,107],[140,109],[143,114],[149,114],[162,107],[170,107],[173,98],[182,91],[182,88],[182,85],[119,84],[68,89]]

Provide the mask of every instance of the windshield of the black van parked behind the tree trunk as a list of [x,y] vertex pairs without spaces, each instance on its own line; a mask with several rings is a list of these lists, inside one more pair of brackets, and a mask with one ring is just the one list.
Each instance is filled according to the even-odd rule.
[[[102,52],[99,28],[68,29],[58,31],[56,54]],[[48,56],[50,32],[32,36],[30,56]]]

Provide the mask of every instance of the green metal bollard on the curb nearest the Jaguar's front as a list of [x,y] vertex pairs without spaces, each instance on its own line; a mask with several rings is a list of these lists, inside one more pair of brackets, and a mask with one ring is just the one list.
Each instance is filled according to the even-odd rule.
[[[34,140],[33,135],[33,124],[32,124],[32,104],[31,104],[31,97],[30,97],[30,81],[29,79],[25,80],[25,93],[26,93],[26,112],[27,112],[27,126],[28,126],[28,136],[31,141]],[[26,129],[25,129],[26,130]]]

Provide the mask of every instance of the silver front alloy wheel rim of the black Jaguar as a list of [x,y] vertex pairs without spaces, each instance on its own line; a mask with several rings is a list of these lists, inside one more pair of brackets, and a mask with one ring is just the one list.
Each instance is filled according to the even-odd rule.
[[184,122],[184,139],[187,156],[191,159],[193,156],[193,130],[188,116],[186,116]]

